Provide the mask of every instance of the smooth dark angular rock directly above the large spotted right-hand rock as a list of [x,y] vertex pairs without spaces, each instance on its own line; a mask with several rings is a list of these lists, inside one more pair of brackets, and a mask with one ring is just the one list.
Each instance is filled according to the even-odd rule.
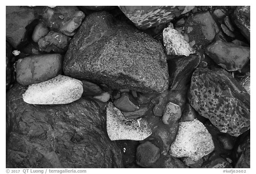
[[205,52],[216,64],[228,71],[241,70],[250,59],[250,47],[236,46],[220,39],[209,45]]

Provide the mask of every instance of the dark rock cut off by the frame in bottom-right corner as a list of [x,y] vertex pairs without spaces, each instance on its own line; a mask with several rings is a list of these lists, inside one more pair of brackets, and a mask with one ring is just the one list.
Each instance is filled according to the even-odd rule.
[[[244,139],[243,143],[244,149],[242,149],[242,153],[236,162],[235,168],[250,168],[250,152],[251,152],[251,141],[250,141],[250,135]],[[242,146],[242,147],[243,147]]]

